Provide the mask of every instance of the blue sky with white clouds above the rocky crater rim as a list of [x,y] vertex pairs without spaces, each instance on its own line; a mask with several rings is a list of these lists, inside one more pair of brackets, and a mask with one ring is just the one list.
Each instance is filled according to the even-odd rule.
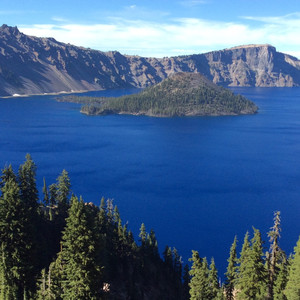
[[300,58],[300,0],[1,0],[28,35],[145,57],[271,44]]

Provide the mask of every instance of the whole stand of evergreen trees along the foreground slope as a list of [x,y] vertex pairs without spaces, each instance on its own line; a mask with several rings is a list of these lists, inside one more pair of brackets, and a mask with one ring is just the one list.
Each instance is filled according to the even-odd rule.
[[97,207],[78,199],[65,170],[51,185],[44,179],[39,199],[36,170],[28,154],[17,171],[9,165],[1,173],[1,300],[299,299],[300,239],[287,257],[279,245],[280,212],[269,246],[253,228],[238,255],[234,238],[222,283],[213,258],[193,250],[191,267],[183,266],[169,246],[161,256],[144,224],[136,241],[112,200],[102,198]]

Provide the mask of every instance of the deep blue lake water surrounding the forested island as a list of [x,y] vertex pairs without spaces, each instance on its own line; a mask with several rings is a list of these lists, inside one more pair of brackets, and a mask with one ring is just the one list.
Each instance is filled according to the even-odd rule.
[[[51,184],[66,169],[85,201],[113,198],[135,234],[144,222],[161,249],[175,246],[185,262],[198,250],[221,273],[234,235],[242,243],[253,225],[267,240],[276,210],[290,253],[300,234],[300,88],[236,91],[259,114],[87,117],[53,96],[1,99],[0,165],[17,168],[29,152],[40,190],[43,176]],[[124,92],[133,91],[99,94]]]

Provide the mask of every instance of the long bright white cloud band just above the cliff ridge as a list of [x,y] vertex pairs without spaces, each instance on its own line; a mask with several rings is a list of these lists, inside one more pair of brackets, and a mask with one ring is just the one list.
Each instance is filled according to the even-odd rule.
[[[102,51],[118,50],[141,56],[203,53],[243,44],[272,44],[278,51],[296,54],[300,48],[298,14],[276,18],[247,18],[247,22],[218,22],[181,18],[158,23],[110,19],[107,24],[42,24],[20,26],[26,34]],[[249,23],[250,22],[250,23]],[[251,23],[254,23],[253,25]]]

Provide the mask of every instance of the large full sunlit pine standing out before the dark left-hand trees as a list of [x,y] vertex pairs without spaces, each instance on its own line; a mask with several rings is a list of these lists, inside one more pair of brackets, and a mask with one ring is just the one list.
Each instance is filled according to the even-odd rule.
[[72,198],[62,237],[62,282],[65,299],[98,299],[101,291],[100,267],[97,265],[94,224],[87,217],[83,201]]

